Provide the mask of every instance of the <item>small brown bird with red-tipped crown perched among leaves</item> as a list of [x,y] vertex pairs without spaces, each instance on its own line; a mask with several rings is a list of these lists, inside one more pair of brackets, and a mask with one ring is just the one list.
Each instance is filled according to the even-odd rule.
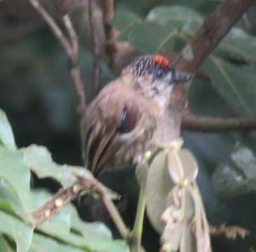
[[119,78],[105,85],[81,120],[83,157],[95,177],[109,167],[139,164],[152,141],[168,143],[179,135],[180,116],[171,103],[177,83],[193,74],[176,71],[163,55],[142,55]]

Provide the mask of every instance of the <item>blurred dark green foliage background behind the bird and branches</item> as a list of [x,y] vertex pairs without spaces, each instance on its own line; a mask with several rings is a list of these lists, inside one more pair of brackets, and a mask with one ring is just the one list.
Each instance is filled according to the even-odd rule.
[[[220,1],[116,1],[113,25],[119,40],[129,41],[143,52],[178,51],[213,12]],[[4,10],[4,3],[0,3]],[[165,6],[164,8],[159,6]],[[173,15],[170,15],[172,13]],[[8,115],[18,147],[47,146],[53,160],[81,165],[78,98],[67,67],[67,56],[48,27],[39,22],[27,36],[15,34],[17,27],[32,25],[34,18],[0,12],[0,108]],[[174,18],[173,18],[174,17]],[[191,111],[204,116],[255,116],[256,97],[256,6],[252,6],[236,28],[210,57],[205,68],[210,78],[196,78],[189,93]],[[12,39],[7,39],[13,34]],[[15,36],[17,35],[17,36]],[[88,99],[92,96],[93,57],[81,46],[80,64]],[[100,85],[116,75],[102,60]],[[183,132],[185,145],[200,165],[198,184],[212,225],[241,225],[250,230],[245,240],[213,239],[215,251],[249,251],[256,247],[256,157],[254,132]],[[137,183],[132,171],[106,174],[107,186],[124,195],[119,208],[132,225],[137,201]],[[118,181],[118,182],[116,182]],[[58,185],[39,181],[52,191]],[[85,219],[105,221],[103,212]],[[98,213],[99,211],[97,211]],[[90,214],[90,215],[89,215]],[[90,216],[90,217],[89,217]],[[156,251],[158,237],[149,222],[144,244]]]

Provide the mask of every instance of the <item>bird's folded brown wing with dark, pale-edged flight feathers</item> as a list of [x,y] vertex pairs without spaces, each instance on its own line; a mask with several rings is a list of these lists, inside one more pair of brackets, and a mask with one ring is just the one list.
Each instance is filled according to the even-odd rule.
[[136,99],[135,91],[117,81],[107,85],[88,106],[81,126],[86,167],[95,176],[123,148],[120,135],[133,131],[141,118],[140,97]]

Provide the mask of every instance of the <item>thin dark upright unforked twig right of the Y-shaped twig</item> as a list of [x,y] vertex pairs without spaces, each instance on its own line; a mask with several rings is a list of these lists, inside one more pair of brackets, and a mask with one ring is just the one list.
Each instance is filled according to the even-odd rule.
[[93,3],[92,0],[88,0],[88,15],[90,32],[93,35],[93,83],[94,83],[94,95],[97,95],[100,89],[100,44],[98,43],[96,31],[94,29],[94,17],[93,17]]

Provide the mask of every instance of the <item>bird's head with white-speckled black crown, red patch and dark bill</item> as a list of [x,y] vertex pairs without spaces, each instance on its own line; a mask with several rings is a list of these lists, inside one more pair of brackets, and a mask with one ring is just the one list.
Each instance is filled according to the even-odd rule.
[[192,73],[175,71],[172,62],[161,55],[144,55],[123,70],[124,80],[145,97],[168,102],[177,83],[190,83]]

